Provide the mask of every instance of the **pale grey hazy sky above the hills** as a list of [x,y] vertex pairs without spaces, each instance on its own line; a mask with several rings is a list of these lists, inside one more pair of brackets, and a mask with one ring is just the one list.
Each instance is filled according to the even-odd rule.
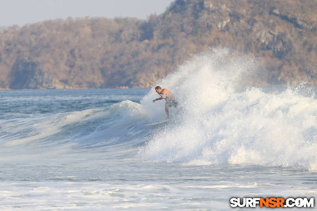
[[72,17],[138,17],[160,14],[173,0],[0,0],[0,26]]

